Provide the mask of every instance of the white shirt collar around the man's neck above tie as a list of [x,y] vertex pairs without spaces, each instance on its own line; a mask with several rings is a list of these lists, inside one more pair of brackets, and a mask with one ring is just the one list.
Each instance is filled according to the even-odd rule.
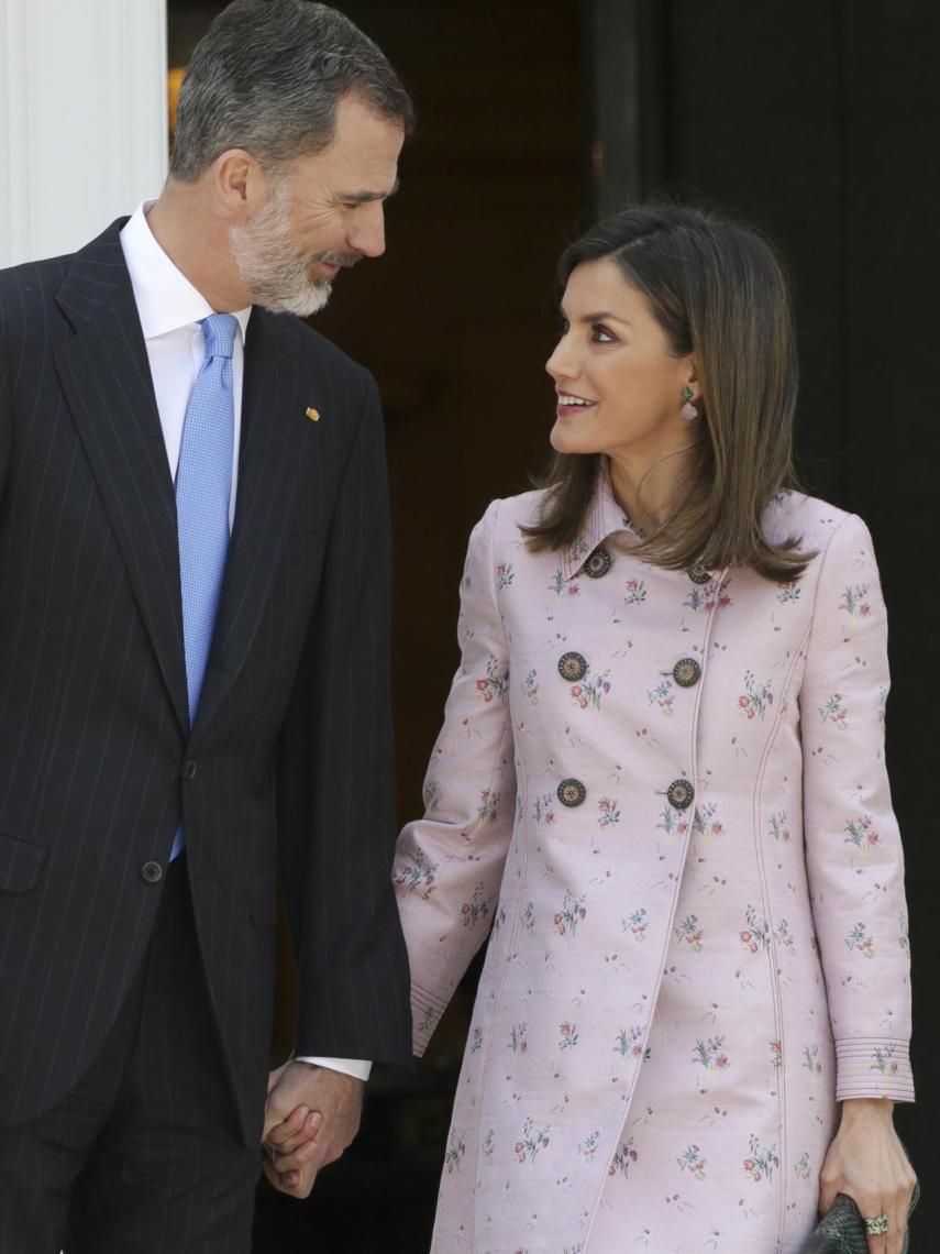
[[[155,201],[142,201],[120,232],[144,340],[192,326],[216,311],[157,243],[147,222]],[[244,341],[252,306],[234,310]]]

